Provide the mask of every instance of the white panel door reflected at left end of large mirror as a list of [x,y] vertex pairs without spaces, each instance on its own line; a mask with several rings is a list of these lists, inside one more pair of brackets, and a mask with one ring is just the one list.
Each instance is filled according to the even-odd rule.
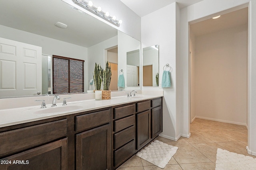
[[42,91],[42,47],[0,38],[0,97]]

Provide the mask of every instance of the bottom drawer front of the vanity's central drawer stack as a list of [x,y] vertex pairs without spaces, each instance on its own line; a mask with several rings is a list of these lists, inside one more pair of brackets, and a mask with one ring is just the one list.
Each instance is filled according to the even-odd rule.
[[135,153],[135,141],[130,141],[124,147],[114,152],[114,166],[118,166]]

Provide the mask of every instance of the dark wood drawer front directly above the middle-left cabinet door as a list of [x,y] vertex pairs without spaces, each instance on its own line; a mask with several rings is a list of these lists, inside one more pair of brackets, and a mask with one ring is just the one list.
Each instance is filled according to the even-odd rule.
[[102,125],[110,121],[110,109],[76,116],[76,131]]

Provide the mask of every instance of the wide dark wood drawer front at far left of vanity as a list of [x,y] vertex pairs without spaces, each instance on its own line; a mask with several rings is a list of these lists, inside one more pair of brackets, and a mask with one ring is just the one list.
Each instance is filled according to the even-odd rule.
[[67,119],[0,133],[0,155],[28,149],[67,133]]

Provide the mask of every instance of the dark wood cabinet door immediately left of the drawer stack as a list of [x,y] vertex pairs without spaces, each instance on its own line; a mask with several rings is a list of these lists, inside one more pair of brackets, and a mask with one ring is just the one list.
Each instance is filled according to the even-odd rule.
[[76,135],[77,170],[110,170],[110,135],[110,124]]

